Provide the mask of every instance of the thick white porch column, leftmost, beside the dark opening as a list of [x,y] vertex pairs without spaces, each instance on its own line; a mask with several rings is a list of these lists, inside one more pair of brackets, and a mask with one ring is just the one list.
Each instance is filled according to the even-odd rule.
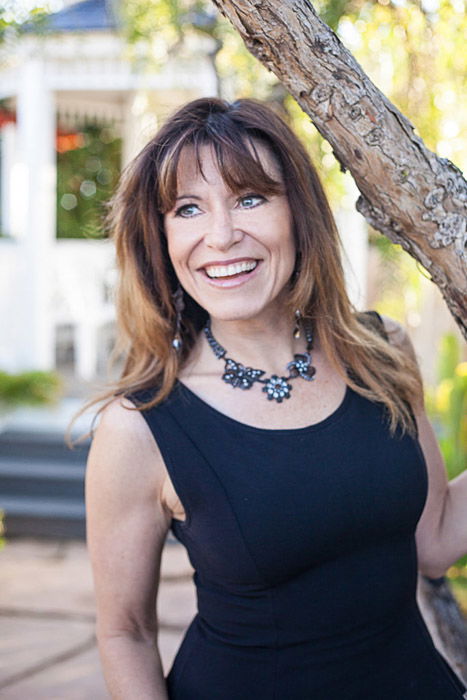
[[55,338],[52,275],[55,243],[55,107],[44,61],[25,61],[17,99],[18,163],[13,201],[20,215],[16,357],[21,369],[52,369]]

